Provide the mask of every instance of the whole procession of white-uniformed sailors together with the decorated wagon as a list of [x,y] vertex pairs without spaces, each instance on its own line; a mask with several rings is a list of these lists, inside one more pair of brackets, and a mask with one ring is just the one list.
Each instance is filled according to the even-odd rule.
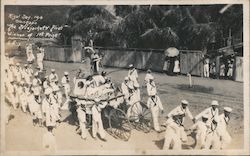
[[[196,133],[194,149],[225,149],[231,143],[232,136],[227,126],[233,110],[223,107],[223,112],[219,112],[217,100],[212,100],[195,116],[189,109],[192,103],[186,99],[179,101],[176,108],[166,110],[163,104],[168,105],[168,102],[161,100],[157,80],[150,69],[144,81],[139,82],[138,71],[130,64],[122,83],[115,84],[109,73],[100,68],[102,58],[88,47],[92,52],[90,74],[79,68],[73,79],[70,79],[72,73],[69,71],[64,71],[59,77],[54,68],[44,68],[44,48],[37,46],[35,57],[32,47],[32,44],[27,46],[25,64],[5,54],[6,126],[16,111],[22,111],[29,114],[33,126],[47,129],[47,135],[51,137],[54,129],[61,128],[61,112],[70,111],[76,126],[72,133],[80,134],[85,142],[88,142],[87,133],[103,142],[109,142],[107,134],[128,141],[136,129],[141,133],[165,133],[163,150],[182,149],[191,133]],[[144,89],[146,97],[141,94]],[[147,100],[144,102],[143,98]],[[186,126],[186,118],[193,122],[192,126]]]

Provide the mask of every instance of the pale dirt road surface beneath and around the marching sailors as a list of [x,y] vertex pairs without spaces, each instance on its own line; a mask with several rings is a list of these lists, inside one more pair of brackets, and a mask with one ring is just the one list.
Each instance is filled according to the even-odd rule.
[[[45,68],[55,68],[59,77],[62,77],[63,71],[70,72],[70,78],[73,76],[79,67],[84,69],[82,64],[77,63],[59,63],[45,62]],[[63,69],[63,70],[62,70]],[[74,71],[73,71],[74,70]],[[112,80],[121,84],[124,77],[127,75],[127,70],[107,68],[107,72],[113,71],[109,76]],[[49,71],[50,72],[50,71]],[[48,73],[49,73],[48,72]],[[207,108],[211,100],[218,100],[220,103],[220,113],[224,106],[233,108],[231,121],[229,123],[229,132],[233,137],[232,144],[229,148],[243,148],[243,83],[238,83],[229,80],[213,80],[200,77],[193,77],[194,88],[190,89],[186,76],[166,76],[161,73],[153,73],[158,86],[158,93],[163,102],[165,116],[171,109],[180,104],[182,99],[190,102],[190,110],[193,115],[198,114],[203,109]],[[145,72],[139,72],[139,82],[141,85],[141,96],[143,101],[147,100],[146,88],[143,86]],[[25,151],[25,150],[41,150],[42,135],[46,131],[45,128],[33,127],[31,117],[22,113],[20,110],[13,111],[15,118],[6,126],[6,148],[7,150]],[[63,116],[67,117],[69,112],[63,112]],[[190,126],[191,121],[186,120],[186,126]],[[114,139],[107,134],[107,142],[94,140],[88,134],[86,141],[82,140],[75,132],[76,126],[68,123],[61,123],[55,129],[54,133],[59,150],[159,150],[162,146],[161,139],[164,133],[142,133],[136,130],[132,131],[132,136],[129,141],[124,142]],[[193,139],[189,138],[189,143],[192,144]]]

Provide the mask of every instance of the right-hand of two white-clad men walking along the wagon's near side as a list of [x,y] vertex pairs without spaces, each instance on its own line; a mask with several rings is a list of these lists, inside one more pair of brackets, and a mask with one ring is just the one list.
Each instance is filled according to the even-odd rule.
[[102,141],[107,141],[105,139],[105,131],[103,129],[101,111],[107,105],[107,102],[100,102],[99,99],[95,99],[96,104],[92,107],[92,136],[96,138],[97,133],[99,133]]

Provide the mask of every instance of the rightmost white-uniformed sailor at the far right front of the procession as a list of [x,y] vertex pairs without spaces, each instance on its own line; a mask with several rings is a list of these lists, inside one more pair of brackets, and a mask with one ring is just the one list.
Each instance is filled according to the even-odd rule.
[[232,108],[224,107],[224,113],[219,116],[218,130],[220,135],[221,147],[220,149],[225,149],[228,144],[231,143],[232,137],[227,131],[227,125],[230,120],[230,113]]

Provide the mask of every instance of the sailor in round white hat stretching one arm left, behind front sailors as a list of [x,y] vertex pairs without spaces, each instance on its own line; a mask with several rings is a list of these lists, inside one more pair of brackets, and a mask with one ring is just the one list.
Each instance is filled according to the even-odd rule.
[[214,117],[219,116],[219,109],[218,109],[219,103],[216,100],[213,100],[211,102],[211,107],[203,110],[200,114],[195,116],[195,121],[201,118],[203,115],[207,114],[208,116],[208,121],[207,123],[210,125]]

